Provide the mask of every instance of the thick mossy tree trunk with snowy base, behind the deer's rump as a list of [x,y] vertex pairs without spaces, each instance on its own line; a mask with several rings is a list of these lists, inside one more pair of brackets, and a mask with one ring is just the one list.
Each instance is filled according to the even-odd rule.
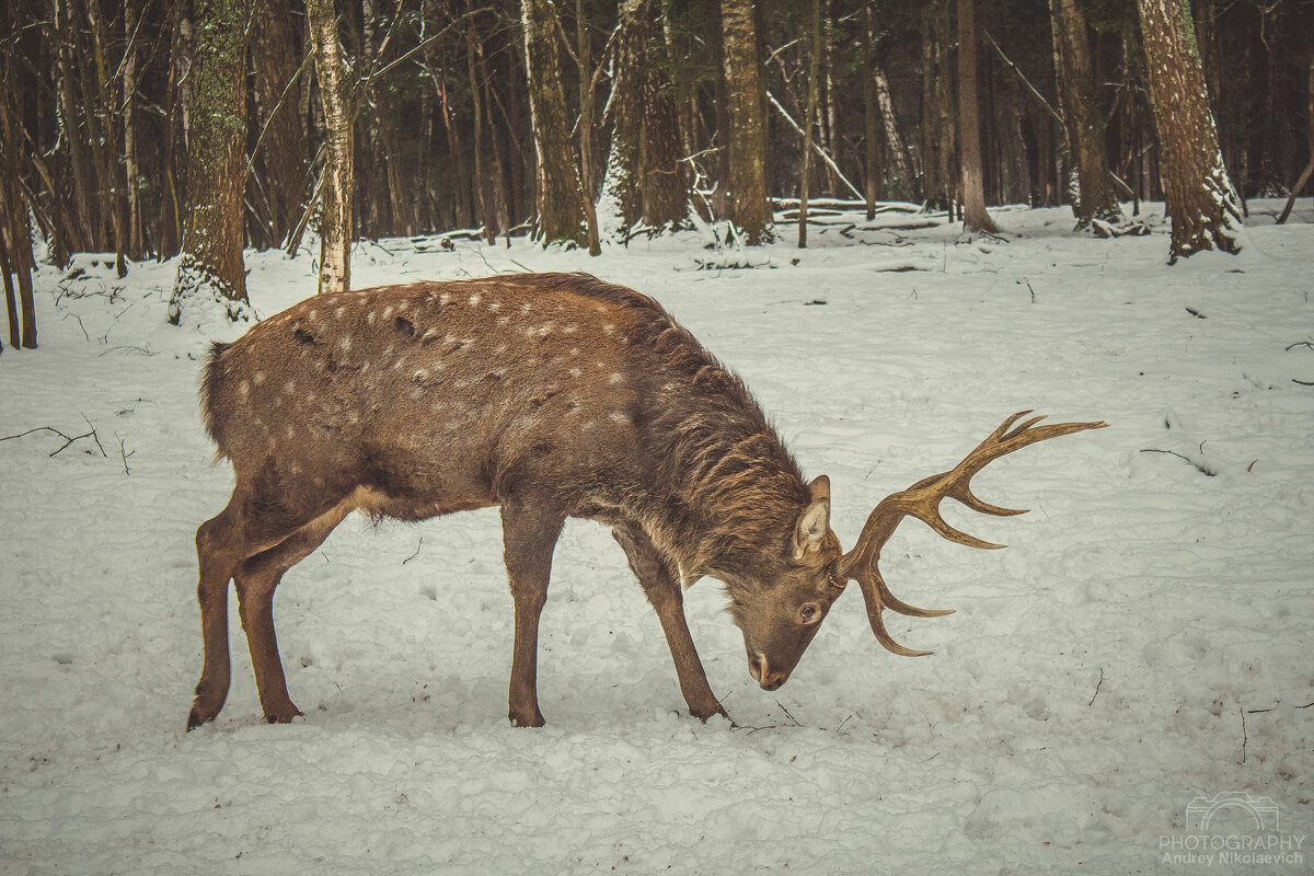
[[[191,121],[187,151],[187,225],[183,256],[170,299],[179,324],[192,296],[244,302],[242,263],[246,192],[246,41],[250,7],[243,0],[196,0]],[[230,319],[240,307],[229,306]]]

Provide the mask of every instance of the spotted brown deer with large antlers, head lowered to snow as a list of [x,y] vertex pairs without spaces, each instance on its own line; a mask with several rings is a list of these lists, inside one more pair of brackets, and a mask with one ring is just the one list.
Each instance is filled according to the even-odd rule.
[[941,500],[987,515],[992,460],[1102,422],[1004,420],[951,470],[883,499],[854,548],[830,529],[830,482],[799,465],[745,383],[654,299],[585,273],[503,274],[307,298],[215,343],[201,412],[229,503],[196,532],[204,667],[187,729],[213,721],[230,684],[227,587],[265,721],[302,712],[288,693],[273,626],[283,575],[352,511],[418,521],[485,507],[501,514],[514,604],[507,716],[541,726],[539,619],[568,517],[610,527],[657,613],[690,713],[727,716],[708,684],[683,588],[724,584],[748,670],[765,691],[790,678],[850,580],[876,641],[900,602],[878,562],[900,520],[999,548],[950,527]]

